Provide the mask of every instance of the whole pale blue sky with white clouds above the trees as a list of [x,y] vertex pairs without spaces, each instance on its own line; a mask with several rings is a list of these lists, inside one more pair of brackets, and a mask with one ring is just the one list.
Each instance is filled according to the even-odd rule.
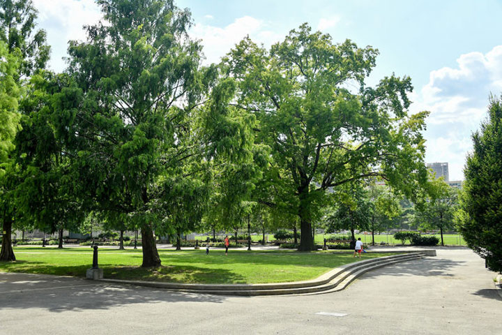
[[[62,71],[68,40],[84,40],[84,25],[100,20],[93,0],[33,0],[38,26],[52,46],[52,70]],[[448,162],[450,180],[462,180],[471,134],[487,115],[490,95],[502,93],[502,0],[338,1],[178,0],[192,13],[193,38],[201,40],[205,63],[218,62],[249,35],[270,47],[304,22],[349,38],[380,54],[367,84],[386,75],[409,75],[410,112],[428,110],[425,161]]]

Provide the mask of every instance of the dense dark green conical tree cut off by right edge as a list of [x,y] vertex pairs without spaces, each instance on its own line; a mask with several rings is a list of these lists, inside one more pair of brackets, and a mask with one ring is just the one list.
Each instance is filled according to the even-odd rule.
[[459,230],[467,245],[502,271],[502,101],[492,97],[488,116],[472,135],[460,200]]

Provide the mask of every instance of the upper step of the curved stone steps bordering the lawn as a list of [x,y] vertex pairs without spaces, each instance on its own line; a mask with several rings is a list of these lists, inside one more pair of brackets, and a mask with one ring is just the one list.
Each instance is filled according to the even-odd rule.
[[139,286],[149,286],[153,288],[165,288],[172,290],[190,290],[190,291],[237,291],[237,290],[284,290],[284,289],[292,289],[292,288],[312,288],[314,286],[324,285],[333,281],[333,278],[336,278],[344,271],[351,269],[353,267],[360,267],[361,265],[368,265],[372,263],[385,262],[386,260],[393,260],[395,258],[406,258],[410,255],[419,255],[420,253],[404,253],[400,255],[391,255],[383,258],[373,258],[370,260],[363,260],[360,262],[352,262],[347,265],[342,265],[341,267],[337,267],[333,270],[328,271],[326,274],[319,276],[316,279],[311,281],[301,281],[301,282],[293,282],[293,283],[270,283],[270,284],[234,284],[234,285],[225,285],[225,284],[184,284],[184,283],[160,283],[153,281],[124,281],[120,279],[109,279],[103,278],[100,281],[108,282],[108,283],[123,283],[130,285],[139,285]]

